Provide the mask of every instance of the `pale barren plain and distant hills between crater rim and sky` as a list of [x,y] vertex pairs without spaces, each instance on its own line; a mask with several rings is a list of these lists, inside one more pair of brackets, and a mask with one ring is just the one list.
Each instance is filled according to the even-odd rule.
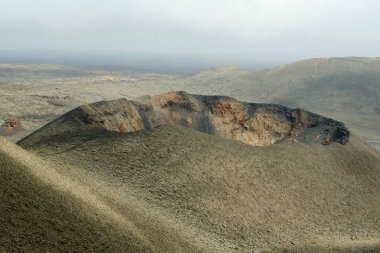
[[81,104],[183,90],[305,108],[346,123],[378,148],[380,68],[379,60],[371,59],[315,59],[256,73],[224,67],[191,76],[116,67],[1,64],[0,124],[19,118],[26,131],[7,137],[17,141]]

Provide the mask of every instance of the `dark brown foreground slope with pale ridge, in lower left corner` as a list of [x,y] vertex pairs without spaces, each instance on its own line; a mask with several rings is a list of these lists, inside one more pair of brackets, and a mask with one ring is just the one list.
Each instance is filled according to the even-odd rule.
[[90,187],[0,137],[1,252],[149,251]]

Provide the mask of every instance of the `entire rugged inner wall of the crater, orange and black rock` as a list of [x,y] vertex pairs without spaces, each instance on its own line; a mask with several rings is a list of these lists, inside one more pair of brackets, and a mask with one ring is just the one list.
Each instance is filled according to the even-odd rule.
[[[50,127],[74,131],[82,126],[117,132],[174,124],[254,146],[284,141],[346,144],[350,137],[343,123],[303,109],[185,92],[145,97],[143,102],[119,99],[83,105],[52,124]],[[40,131],[48,132],[46,127]]]

